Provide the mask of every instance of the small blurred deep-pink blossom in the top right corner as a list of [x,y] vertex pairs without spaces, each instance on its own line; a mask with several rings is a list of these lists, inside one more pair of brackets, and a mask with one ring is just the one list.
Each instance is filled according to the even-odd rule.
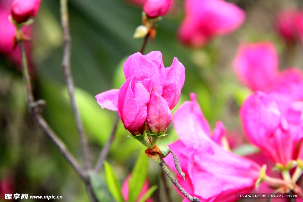
[[286,41],[292,42],[297,38],[297,28],[295,24],[298,11],[294,9],[285,9],[281,11],[276,18],[276,27]]

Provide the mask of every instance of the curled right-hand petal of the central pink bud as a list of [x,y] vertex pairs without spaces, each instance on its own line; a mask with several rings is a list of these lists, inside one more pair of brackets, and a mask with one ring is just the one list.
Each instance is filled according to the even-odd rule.
[[185,81],[185,68],[177,58],[174,58],[171,66],[162,68],[160,72],[163,87],[162,97],[172,109],[180,99],[181,89]]

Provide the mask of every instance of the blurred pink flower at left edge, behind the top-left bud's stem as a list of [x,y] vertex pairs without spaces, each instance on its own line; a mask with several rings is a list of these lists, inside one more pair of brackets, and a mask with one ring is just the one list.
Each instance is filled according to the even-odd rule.
[[[21,70],[21,57],[18,45],[14,49],[14,38],[17,30],[15,25],[8,19],[11,2],[11,0],[0,2],[0,27],[3,28],[0,29],[0,53]],[[27,36],[31,36],[32,27],[24,26],[22,27],[22,32]],[[25,42],[25,51],[28,58],[30,74],[34,76],[35,68],[31,60],[31,44],[29,42]]]

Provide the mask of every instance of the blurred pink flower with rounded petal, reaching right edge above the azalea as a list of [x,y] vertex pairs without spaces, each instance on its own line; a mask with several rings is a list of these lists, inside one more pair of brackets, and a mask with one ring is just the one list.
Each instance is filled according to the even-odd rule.
[[278,67],[278,53],[271,42],[241,44],[233,61],[238,78],[253,91],[279,90],[302,81],[301,70],[288,68],[279,72]]

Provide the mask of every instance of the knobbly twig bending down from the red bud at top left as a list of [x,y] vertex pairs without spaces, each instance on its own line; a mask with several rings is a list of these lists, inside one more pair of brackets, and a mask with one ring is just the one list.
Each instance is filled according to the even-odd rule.
[[73,155],[68,151],[65,144],[58,138],[54,131],[49,127],[45,119],[38,113],[37,104],[32,93],[32,85],[30,76],[28,73],[27,60],[25,55],[25,49],[23,41],[19,42],[20,52],[22,58],[22,72],[23,72],[23,82],[26,91],[26,97],[28,101],[29,112],[32,115],[33,119],[38,123],[42,128],[43,132],[49,137],[49,139],[55,144],[60,153],[65,157],[68,163],[74,168],[76,173],[82,178],[83,181],[88,181],[88,176],[85,171],[82,169],[78,161],[73,157]]

